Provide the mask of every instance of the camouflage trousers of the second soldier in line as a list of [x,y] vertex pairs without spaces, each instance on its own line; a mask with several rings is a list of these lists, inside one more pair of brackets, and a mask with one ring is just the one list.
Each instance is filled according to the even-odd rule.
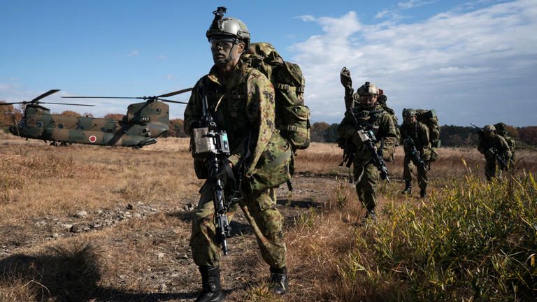
[[377,167],[372,163],[369,164],[357,164],[355,161],[354,177],[356,183],[356,192],[358,199],[366,210],[370,211],[377,205],[375,188],[377,187],[378,179],[380,175]]

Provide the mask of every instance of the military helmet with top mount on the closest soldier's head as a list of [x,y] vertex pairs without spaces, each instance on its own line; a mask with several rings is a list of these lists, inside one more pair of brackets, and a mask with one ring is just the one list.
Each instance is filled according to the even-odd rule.
[[246,27],[246,24],[237,18],[224,17],[226,10],[227,8],[220,6],[217,8],[217,10],[213,11],[213,14],[215,14],[215,19],[207,30],[207,38],[239,38],[246,44],[245,49],[248,50],[250,47],[250,31],[248,30],[248,27]]

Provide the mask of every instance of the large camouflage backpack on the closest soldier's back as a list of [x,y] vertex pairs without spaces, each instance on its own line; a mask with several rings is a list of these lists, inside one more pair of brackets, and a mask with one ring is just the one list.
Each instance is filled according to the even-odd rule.
[[275,128],[293,150],[310,145],[310,109],[304,105],[304,77],[300,66],[285,62],[270,43],[252,43],[241,56],[261,71],[275,89]]

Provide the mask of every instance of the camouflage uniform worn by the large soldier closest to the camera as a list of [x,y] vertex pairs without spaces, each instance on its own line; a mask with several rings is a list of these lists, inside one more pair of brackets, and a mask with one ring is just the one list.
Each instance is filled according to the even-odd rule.
[[[245,164],[244,175],[250,177],[263,162],[278,156],[266,150],[278,150],[274,146],[288,144],[274,130],[274,88],[265,75],[238,62],[233,75],[223,82],[216,66],[200,81],[205,83],[208,107],[219,129],[227,131],[234,168]],[[197,91],[199,82],[194,87]],[[190,97],[185,109],[185,133],[202,115],[201,100],[197,93]],[[248,148],[247,148],[248,145]],[[284,146],[285,147],[285,146]],[[289,146],[287,145],[287,148]],[[248,150],[251,154],[248,158]],[[245,182],[245,181],[243,181]],[[243,183],[243,185],[245,185]],[[275,190],[262,192],[241,188],[243,199],[239,203],[254,229],[263,259],[271,268],[286,265],[286,247],[282,233],[282,215],[275,208]],[[215,244],[214,206],[210,185],[200,189],[198,209],[192,221],[190,246],[194,262],[198,266],[218,266],[220,248]],[[231,221],[233,210],[228,213]]]

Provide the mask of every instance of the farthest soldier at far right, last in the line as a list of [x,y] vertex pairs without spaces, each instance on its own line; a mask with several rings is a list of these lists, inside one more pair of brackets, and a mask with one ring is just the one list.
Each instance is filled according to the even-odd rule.
[[505,138],[496,134],[496,128],[493,125],[483,127],[482,135],[479,136],[478,150],[485,155],[487,180],[501,178],[501,172],[507,168],[507,160],[513,154]]

